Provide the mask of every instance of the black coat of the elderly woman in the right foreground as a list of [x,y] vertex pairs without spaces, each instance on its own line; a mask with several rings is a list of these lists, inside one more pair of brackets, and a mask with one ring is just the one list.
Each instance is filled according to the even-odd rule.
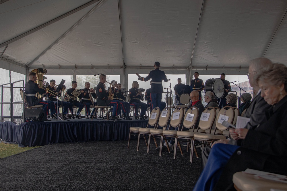
[[287,175],[287,96],[265,112],[266,122],[249,129],[230,157],[214,190],[225,190],[232,175],[247,168]]

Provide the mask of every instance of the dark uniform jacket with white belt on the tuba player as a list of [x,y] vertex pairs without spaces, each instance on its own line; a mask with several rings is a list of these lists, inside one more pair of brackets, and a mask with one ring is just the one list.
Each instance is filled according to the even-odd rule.
[[[36,93],[39,92],[40,94],[44,94],[45,90],[40,88],[38,84],[36,84],[34,81],[29,80],[25,84],[25,94],[31,94],[31,95],[36,95]],[[40,100],[36,96],[27,96],[26,95],[26,100],[28,106],[34,106],[40,103]]]

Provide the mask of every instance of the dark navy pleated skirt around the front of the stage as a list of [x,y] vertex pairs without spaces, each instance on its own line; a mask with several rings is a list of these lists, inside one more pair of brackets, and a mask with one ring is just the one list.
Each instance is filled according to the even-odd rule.
[[0,123],[0,138],[6,142],[19,143],[19,147],[63,142],[128,140],[130,127],[146,127],[147,124],[148,119],[131,121],[70,119],[25,122],[20,125],[6,121]]

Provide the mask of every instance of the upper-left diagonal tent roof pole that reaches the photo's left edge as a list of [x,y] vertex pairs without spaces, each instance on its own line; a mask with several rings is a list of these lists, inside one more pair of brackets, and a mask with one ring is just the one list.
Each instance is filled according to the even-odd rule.
[[90,1],[90,2],[88,2],[88,3],[86,3],[86,4],[82,5],[82,6],[80,6],[80,7],[78,7],[78,8],[72,10],[72,11],[69,11],[69,12],[65,13],[64,15],[61,15],[60,17],[57,17],[57,18],[55,18],[55,19],[53,19],[53,20],[51,20],[51,21],[49,21],[49,22],[46,22],[46,23],[44,23],[44,24],[42,24],[42,25],[40,25],[40,26],[38,26],[38,27],[36,27],[36,28],[34,28],[34,29],[28,31],[28,32],[25,32],[24,34],[21,34],[21,35],[15,37],[15,38],[12,38],[11,40],[8,40],[8,41],[6,41],[6,42],[0,44],[0,48],[2,48],[3,46],[5,46],[5,44],[10,44],[10,43],[12,43],[12,42],[15,42],[16,40],[19,40],[19,39],[21,39],[21,38],[24,38],[24,37],[28,36],[29,34],[32,34],[32,33],[36,32],[36,31],[38,31],[38,30],[40,30],[40,29],[42,29],[42,28],[44,28],[44,27],[46,27],[46,26],[49,26],[49,25],[51,25],[51,24],[53,24],[53,23],[55,23],[55,22],[57,22],[57,21],[59,21],[59,20],[65,18],[65,17],[67,17],[67,16],[69,16],[69,15],[71,15],[71,14],[73,14],[73,13],[76,13],[77,11],[80,11],[80,10],[82,10],[82,9],[84,9],[84,8],[90,6],[90,5],[92,5],[92,4],[94,4],[94,3],[98,2],[98,1],[100,1],[100,0],[92,0],[92,1]]

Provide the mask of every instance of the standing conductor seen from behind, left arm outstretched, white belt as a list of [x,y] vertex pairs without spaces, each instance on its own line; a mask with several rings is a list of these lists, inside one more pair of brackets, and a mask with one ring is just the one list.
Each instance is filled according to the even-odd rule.
[[154,63],[154,70],[150,71],[147,77],[143,78],[138,73],[137,76],[139,77],[139,80],[147,82],[148,80],[152,79],[152,85],[150,87],[150,100],[152,103],[152,109],[159,107],[160,111],[162,111],[161,108],[161,101],[162,101],[162,94],[163,94],[163,87],[162,87],[162,80],[164,82],[167,82],[168,79],[166,78],[166,75],[164,71],[159,69],[160,63],[155,62]]

